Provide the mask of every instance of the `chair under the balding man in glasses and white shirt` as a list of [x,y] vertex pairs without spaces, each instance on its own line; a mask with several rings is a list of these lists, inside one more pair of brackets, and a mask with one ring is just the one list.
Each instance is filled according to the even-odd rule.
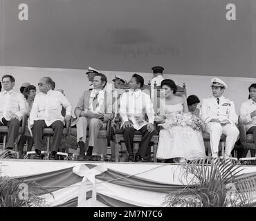
[[[71,120],[66,122],[66,124],[65,124],[65,126],[63,128],[63,135],[64,136],[67,136],[69,134],[70,126],[71,126]],[[28,137],[31,137],[31,135],[30,135],[30,133],[28,131],[28,126],[26,126],[26,131],[25,131],[24,135],[26,135]],[[46,149],[46,151],[41,151],[41,153],[42,153],[42,155],[44,155],[44,160],[49,160],[49,155],[50,155],[50,139],[53,136],[53,128],[51,128],[51,127],[44,128],[43,135],[47,138],[47,142],[46,142],[47,149]],[[27,159],[28,155],[32,155],[32,154],[35,154],[35,151],[28,151],[26,153],[26,155],[24,156],[24,159]],[[62,155],[62,156],[64,156],[64,160],[68,160],[68,153],[57,152],[57,155]]]

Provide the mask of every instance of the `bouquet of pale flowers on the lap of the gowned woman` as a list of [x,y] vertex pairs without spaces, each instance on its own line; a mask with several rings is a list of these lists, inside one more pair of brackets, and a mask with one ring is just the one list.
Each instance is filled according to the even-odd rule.
[[190,126],[195,131],[202,131],[202,121],[199,117],[192,115],[191,113],[168,113],[163,124],[158,124],[167,129],[172,126]]

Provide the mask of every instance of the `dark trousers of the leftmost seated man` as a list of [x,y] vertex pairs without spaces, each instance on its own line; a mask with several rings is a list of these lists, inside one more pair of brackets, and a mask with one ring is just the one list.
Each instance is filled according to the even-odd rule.
[[7,148],[12,149],[15,147],[15,140],[19,133],[19,126],[21,122],[18,119],[11,119],[7,121],[5,118],[2,119],[3,124],[0,122],[0,126],[7,126],[8,127],[8,141],[7,141]]

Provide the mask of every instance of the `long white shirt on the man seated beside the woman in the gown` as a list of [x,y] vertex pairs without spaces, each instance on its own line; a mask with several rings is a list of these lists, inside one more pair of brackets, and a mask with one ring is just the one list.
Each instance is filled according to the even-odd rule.
[[[145,120],[145,113],[149,122]],[[149,95],[141,90],[135,92],[129,90],[124,93],[120,98],[120,116],[122,117],[122,125],[131,121],[136,130],[147,124],[154,124],[154,108]]]

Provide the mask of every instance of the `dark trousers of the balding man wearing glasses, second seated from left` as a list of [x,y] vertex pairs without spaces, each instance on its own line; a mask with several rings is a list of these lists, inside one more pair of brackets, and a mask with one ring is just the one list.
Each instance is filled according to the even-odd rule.
[[[39,119],[35,121],[34,126],[32,128],[32,133],[33,133],[33,140],[35,144],[35,149],[42,151],[42,148],[44,148],[44,135],[43,131],[44,128],[46,128],[46,122],[43,119]],[[53,128],[53,144],[52,144],[52,151],[58,150],[60,148],[60,143],[62,142],[62,133],[63,133],[63,128],[64,124],[62,121],[57,120],[53,122],[50,126]]]

